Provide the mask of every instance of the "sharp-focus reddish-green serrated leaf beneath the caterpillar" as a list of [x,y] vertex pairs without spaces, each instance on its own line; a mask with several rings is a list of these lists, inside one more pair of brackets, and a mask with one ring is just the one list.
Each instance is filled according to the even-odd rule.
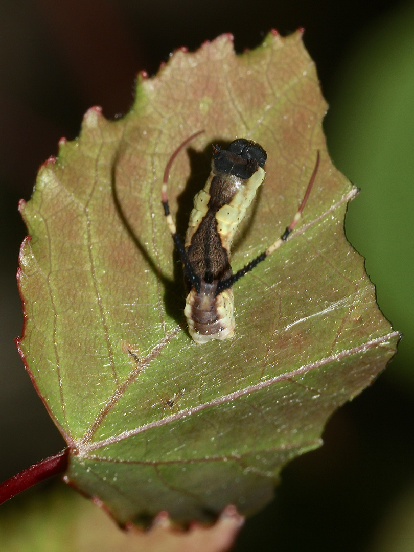
[[[224,35],[141,76],[123,119],[89,110],[22,205],[31,240],[20,257],[19,347],[72,449],[66,480],[120,523],[160,510],[204,520],[228,503],[253,512],[394,354],[399,334],[344,237],[356,190],[328,157],[325,112],[300,33],[269,34],[241,56]],[[321,152],[298,230],[235,285],[236,337],[203,347],[185,329],[160,201],[169,156],[200,129],[170,173],[181,234],[211,144],[247,137],[268,153],[234,270],[284,231]]]

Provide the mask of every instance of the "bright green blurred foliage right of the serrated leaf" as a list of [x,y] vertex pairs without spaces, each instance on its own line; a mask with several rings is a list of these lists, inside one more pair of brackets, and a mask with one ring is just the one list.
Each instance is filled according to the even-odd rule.
[[381,310],[404,334],[388,376],[414,391],[414,4],[381,20],[340,68],[328,146],[360,189],[349,241],[367,257]]

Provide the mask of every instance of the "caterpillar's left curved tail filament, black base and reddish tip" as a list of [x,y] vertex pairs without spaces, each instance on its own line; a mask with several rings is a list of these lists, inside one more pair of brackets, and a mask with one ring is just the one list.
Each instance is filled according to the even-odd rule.
[[166,164],[166,168],[164,170],[164,176],[162,179],[162,187],[161,187],[161,203],[164,208],[164,215],[166,216],[166,222],[168,226],[168,230],[171,232],[171,236],[174,240],[174,245],[176,246],[176,250],[181,258],[181,261],[184,265],[184,273],[185,277],[188,279],[188,282],[195,288],[197,293],[200,291],[200,277],[195,274],[193,267],[191,266],[190,262],[187,258],[187,253],[185,253],[185,248],[183,245],[183,242],[181,241],[181,238],[179,237],[177,233],[176,225],[174,224],[174,221],[172,219],[171,213],[169,212],[168,207],[168,197],[167,197],[167,182],[168,182],[168,176],[169,171],[172,167],[172,164],[174,160],[176,159],[177,155],[181,150],[187,146],[187,144],[192,141],[195,137],[199,136],[200,134],[203,134],[205,132],[204,130],[199,130],[198,132],[194,132],[191,136],[189,136],[187,139],[185,139],[178,147],[177,149],[172,153],[171,157],[168,160],[168,163]]

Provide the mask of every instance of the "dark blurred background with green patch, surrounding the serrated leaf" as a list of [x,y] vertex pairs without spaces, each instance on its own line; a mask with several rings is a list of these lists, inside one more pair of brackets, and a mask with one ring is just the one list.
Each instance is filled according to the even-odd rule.
[[387,372],[332,417],[325,445],[285,469],[236,550],[414,550],[413,25],[414,4],[395,0],[0,0],[0,481],[64,447],[13,342],[17,203],[40,163],[92,105],[107,118],[128,112],[136,73],[152,75],[179,46],[231,32],[241,52],[272,27],[303,26],[331,105],[333,161],[362,189],[347,235],[406,337]]

